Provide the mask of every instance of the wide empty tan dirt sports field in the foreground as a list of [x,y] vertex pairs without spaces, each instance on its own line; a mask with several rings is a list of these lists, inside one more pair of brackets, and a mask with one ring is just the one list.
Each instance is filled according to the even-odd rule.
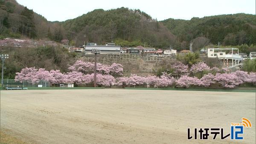
[[[0,92],[0,126],[26,143],[247,143],[256,141],[254,92],[72,89]],[[250,120],[244,140],[194,140],[194,128]],[[191,128],[193,138],[187,140]]]

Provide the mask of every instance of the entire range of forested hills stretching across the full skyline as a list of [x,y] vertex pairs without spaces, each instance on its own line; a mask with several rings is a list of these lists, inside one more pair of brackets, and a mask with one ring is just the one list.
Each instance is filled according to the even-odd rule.
[[[70,45],[85,42],[104,44],[116,42],[121,46],[145,45],[155,48],[198,51],[209,44],[222,46],[256,45],[256,16],[253,14],[227,14],[191,20],[167,19],[157,21],[139,9],[96,9],[75,19],[49,22],[33,10],[15,0],[0,0],[0,37],[27,37]],[[253,45],[252,45],[253,44]]]

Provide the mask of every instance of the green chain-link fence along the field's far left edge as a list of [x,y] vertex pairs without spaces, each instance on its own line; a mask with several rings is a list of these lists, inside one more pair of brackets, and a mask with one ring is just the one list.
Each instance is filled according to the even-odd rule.
[[[0,81],[2,82],[2,80]],[[32,84],[31,81],[15,81],[14,79],[3,79],[1,87],[48,87],[50,83],[46,80],[39,80],[37,83]]]

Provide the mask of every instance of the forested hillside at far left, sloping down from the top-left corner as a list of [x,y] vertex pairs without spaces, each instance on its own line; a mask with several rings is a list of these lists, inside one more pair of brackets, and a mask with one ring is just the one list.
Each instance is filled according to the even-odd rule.
[[0,0],[0,37],[26,37],[60,41],[65,37],[58,23],[18,4],[15,0]]

